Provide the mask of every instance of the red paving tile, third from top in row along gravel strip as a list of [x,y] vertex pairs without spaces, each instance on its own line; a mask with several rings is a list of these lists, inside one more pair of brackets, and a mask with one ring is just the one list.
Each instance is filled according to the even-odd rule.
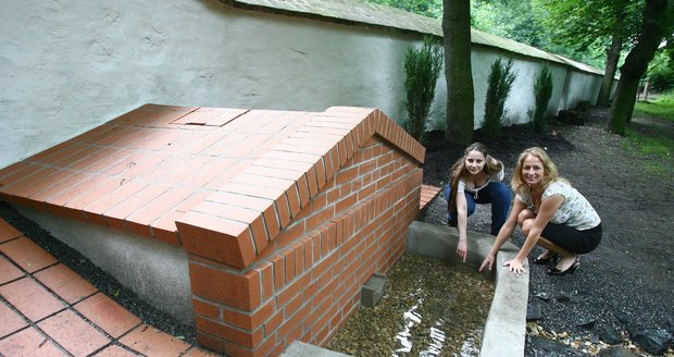
[[34,276],[71,305],[98,291],[88,281],[64,264],[49,267],[35,273]]

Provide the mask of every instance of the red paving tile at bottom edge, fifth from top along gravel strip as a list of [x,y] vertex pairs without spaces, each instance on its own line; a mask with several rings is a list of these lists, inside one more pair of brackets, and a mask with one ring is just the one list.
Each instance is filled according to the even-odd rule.
[[120,343],[148,357],[178,356],[189,348],[187,343],[147,324],[134,329]]

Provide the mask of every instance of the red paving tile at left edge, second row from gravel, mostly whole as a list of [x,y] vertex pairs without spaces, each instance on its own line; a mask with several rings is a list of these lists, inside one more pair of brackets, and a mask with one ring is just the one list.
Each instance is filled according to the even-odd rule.
[[0,286],[0,295],[33,322],[65,308],[65,305],[30,278]]

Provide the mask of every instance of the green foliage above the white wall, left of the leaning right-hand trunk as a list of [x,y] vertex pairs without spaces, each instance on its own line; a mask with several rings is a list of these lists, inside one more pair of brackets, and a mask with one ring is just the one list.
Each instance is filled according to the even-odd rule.
[[[360,0],[441,19],[441,0]],[[637,38],[644,0],[472,0],[473,28],[602,69],[619,13],[624,53]],[[622,56],[624,58],[624,56]]]

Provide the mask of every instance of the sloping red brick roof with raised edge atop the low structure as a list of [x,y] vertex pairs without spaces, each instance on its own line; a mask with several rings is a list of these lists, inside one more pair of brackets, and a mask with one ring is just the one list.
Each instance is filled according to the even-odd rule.
[[423,162],[377,109],[146,104],[0,170],[0,197],[244,268],[373,135]]

